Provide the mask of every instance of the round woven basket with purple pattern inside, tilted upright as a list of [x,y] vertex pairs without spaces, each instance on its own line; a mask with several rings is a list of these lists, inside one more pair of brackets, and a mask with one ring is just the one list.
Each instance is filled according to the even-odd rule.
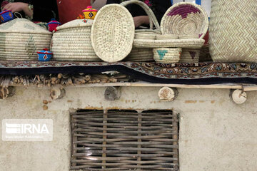
[[197,34],[203,38],[208,30],[208,15],[199,5],[181,2],[171,6],[161,19],[163,34]]

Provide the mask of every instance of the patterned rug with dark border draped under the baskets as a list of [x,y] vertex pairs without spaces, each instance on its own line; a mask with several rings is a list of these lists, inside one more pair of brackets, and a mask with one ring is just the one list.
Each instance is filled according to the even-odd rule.
[[0,62],[1,75],[119,71],[151,83],[257,83],[257,63]]

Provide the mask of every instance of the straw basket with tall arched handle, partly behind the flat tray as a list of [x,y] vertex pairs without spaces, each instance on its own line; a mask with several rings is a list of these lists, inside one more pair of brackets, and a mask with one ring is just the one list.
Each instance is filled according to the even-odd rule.
[[[156,16],[153,14],[153,11],[142,1],[131,0],[124,1],[121,3],[121,6],[128,6],[129,4],[137,4],[141,6],[141,8],[146,11],[146,14],[149,16],[150,21],[150,29],[138,29],[136,30],[136,39],[146,39],[146,40],[155,40],[156,35],[161,34],[160,25],[156,19]],[[125,61],[153,61],[153,49],[152,48],[136,48],[133,46],[131,53],[129,56],[125,58]]]

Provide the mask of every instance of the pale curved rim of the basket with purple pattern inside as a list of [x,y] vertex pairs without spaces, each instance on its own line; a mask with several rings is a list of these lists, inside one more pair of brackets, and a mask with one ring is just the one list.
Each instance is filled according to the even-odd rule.
[[203,9],[203,7],[202,6],[200,6],[200,5],[198,5],[198,4],[194,4],[194,3],[191,3],[191,2],[179,2],[179,3],[177,3],[177,4],[174,4],[173,6],[171,6],[167,11],[166,11],[166,13],[163,15],[163,18],[161,19],[161,33],[162,34],[165,34],[164,33],[164,30],[163,30],[163,28],[165,27],[164,26],[164,23],[165,23],[165,20],[166,20],[166,17],[169,17],[169,16],[167,16],[167,14],[172,10],[172,9],[174,9],[174,8],[176,8],[176,7],[178,7],[178,6],[183,6],[183,5],[191,5],[191,6],[194,6],[194,7],[196,7],[197,9],[199,9],[200,11],[201,11],[201,13],[203,14],[203,16],[204,16],[204,27],[203,27],[203,33],[198,33],[199,35],[200,34],[202,34],[201,35],[201,37],[200,38],[203,38],[205,35],[206,35],[206,33],[207,33],[207,31],[208,31],[208,14],[207,14],[207,12],[205,11],[205,9]]

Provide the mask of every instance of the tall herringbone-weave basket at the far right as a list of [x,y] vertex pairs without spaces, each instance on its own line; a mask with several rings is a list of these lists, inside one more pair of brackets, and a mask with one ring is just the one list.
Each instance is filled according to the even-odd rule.
[[256,0],[213,0],[209,47],[215,62],[257,62]]

